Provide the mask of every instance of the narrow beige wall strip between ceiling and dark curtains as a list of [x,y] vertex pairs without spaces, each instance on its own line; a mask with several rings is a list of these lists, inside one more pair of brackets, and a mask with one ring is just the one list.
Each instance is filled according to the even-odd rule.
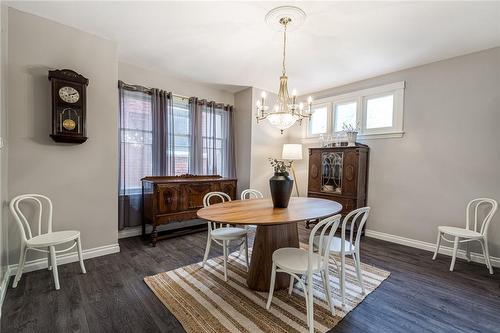
[[118,63],[118,77],[129,84],[164,89],[172,91],[174,94],[189,97],[196,96],[200,99],[207,99],[218,103],[231,105],[234,103],[234,95],[232,93],[217,89],[213,85],[172,78],[161,75],[156,71],[122,62]]

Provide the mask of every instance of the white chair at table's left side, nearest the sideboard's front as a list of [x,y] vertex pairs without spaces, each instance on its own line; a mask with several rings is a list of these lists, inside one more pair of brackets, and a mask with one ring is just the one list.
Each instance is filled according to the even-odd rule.
[[[209,207],[210,199],[212,198],[219,198],[219,200],[221,200],[222,202],[231,201],[231,197],[224,192],[210,192],[205,194],[205,196],[203,197],[203,206]],[[241,243],[238,244],[238,246],[245,246],[245,259],[248,270],[248,230],[243,228],[231,227],[229,224],[224,225],[222,223],[211,221],[208,222],[207,247],[205,249],[205,256],[203,257],[202,267],[205,267],[212,242],[222,246],[224,253],[224,281],[227,281],[227,257],[229,251],[229,242],[234,240],[241,240]]]

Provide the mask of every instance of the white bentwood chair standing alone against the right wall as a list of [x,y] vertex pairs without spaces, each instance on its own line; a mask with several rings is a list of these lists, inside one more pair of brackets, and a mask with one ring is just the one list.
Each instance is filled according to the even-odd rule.
[[[480,207],[485,208],[485,211],[483,212],[484,217],[482,219],[479,216]],[[436,260],[437,254],[439,252],[439,247],[441,246],[441,240],[453,243],[453,255],[450,264],[450,271],[452,272],[453,268],[455,267],[458,245],[465,243],[466,258],[467,261],[470,261],[471,257],[469,245],[471,242],[478,241],[483,249],[486,267],[488,267],[490,274],[493,274],[493,266],[491,265],[490,253],[488,251],[488,228],[497,208],[498,203],[494,199],[477,198],[471,200],[467,204],[466,208],[467,216],[465,218],[465,228],[448,227],[442,225],[438,227],[436,250],[434,252],[432,260]],[[449,235],[453,237],[453,239],[448,239],[445,235]]]

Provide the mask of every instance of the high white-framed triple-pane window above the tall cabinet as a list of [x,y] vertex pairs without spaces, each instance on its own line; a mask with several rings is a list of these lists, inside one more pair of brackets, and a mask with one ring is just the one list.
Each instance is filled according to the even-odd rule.
[[404,89],[402,81],[317,100],[307,137],[342,132],[344,124],[358,128],[361,139],[402,137]]

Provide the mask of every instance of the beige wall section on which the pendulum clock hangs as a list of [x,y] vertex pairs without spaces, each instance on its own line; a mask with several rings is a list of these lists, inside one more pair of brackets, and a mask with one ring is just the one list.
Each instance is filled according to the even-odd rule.
[[[118,60],[114,43],[9,9],[9,197],[43,193],[54,204],[54,229],[82,233],[84,249],[117,243]],[[89,78],[87,135],[57,144],[51,130],[49,69]],[[9,225],[10,263],[19,233]],[[28,260],[34,258],[28,257]]]

